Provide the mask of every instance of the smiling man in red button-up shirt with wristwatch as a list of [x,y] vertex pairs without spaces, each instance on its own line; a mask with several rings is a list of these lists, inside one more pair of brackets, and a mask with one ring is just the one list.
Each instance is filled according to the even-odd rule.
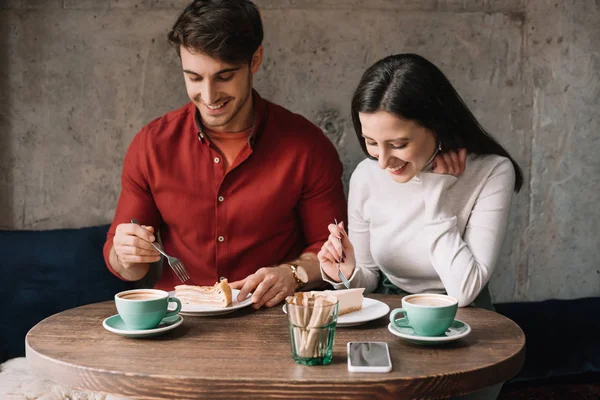
[[[134,137],[104,245],[108,268],[145,277],[160,260],[151,245],[160,231],[165,252],[188,270],[186,284],[227,278],[240,300],[253,293],[255,308],[318,285],[327,226],[346,219],[342,165],[316,126],[252,89],[263,57],[258,9],[196,0],[168,37],[191,103]],[[178,284],[163,268],[155,287]]]

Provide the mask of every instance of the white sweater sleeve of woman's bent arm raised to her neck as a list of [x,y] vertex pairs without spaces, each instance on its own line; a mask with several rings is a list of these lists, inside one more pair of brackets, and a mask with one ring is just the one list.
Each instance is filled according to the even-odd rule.
[[432,264],[446,292],[464,307],[492,276],[508,223],[515,171],[508,159],[494,167],[475,200],[462,237],[452,201],[446,197],[457,180],[451,175],[421,174]]

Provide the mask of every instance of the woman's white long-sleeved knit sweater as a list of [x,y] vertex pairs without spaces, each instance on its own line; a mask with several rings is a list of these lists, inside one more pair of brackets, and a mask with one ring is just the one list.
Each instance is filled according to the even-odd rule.
[[421,172],[406,183],[362,161],[348,197],[351,287],[372,292],[383,271],[409,293],[447,292],[459,306],[471,304],[498,260],[514,184],[512,163],[497,155],[469,155],[459,178]]

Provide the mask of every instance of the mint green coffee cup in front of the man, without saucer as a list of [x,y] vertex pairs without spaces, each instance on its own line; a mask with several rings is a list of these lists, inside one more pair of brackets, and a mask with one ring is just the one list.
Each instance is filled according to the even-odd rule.
[[[169,303],[177,308],[167,311]],[[181,311],[181,302],[169,293],[158,289],[126,290],[115,295],[115,305],[119,316],[130,329],[142,330],[156,328],[163,318],[177,315]]]

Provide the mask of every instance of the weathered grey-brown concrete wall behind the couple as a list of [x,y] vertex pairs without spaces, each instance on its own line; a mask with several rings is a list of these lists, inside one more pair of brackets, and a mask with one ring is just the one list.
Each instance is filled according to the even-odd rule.
[[[165,34],[182,0],[0,0],[0,227],[107,223],[123,155],[187,102]],[[392,53],[436,63],[522,166],[496,301],[600,295],[600,4],[257,0],[256,88],[320,125],[345,178],[363,158],[349,101]]]

